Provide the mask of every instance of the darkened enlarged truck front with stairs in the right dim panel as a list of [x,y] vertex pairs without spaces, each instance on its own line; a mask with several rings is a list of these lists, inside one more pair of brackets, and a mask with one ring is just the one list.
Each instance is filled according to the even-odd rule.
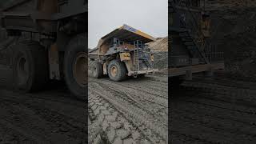
[[192,74],[223,70],[223,53],[210,42],[210,14],[202,0],[169,0],[169,78],[179,84]]

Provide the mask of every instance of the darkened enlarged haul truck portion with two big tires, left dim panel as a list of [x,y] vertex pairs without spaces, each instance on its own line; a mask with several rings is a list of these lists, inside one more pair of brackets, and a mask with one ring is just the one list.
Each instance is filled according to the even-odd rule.
[[1,11],[1,25],[15,38],[14,90],[31,92],[65,80],[77,98],[87,94],[87,0],[14,0]]

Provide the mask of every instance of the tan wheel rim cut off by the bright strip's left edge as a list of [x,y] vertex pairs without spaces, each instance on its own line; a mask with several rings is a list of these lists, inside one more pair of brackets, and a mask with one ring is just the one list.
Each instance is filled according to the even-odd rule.
[[82,87],[86,86],[86,60],[87,54],[85,52],[80,52],[75,58],[73,66],[74,79],[78,85]]

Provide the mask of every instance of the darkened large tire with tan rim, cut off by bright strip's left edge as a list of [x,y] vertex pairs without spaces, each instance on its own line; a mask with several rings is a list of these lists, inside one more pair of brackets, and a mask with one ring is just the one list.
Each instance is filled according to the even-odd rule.
[[88,83],[88,53],[87,38],[85,34],[79,34],[72,38],[64,55],[64,77],[66,86],[77,98],[85,100]]

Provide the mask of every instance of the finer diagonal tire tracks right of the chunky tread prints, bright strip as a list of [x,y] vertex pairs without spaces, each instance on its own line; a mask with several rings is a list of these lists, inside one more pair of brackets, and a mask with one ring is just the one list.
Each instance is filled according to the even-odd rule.
[[[98,94],[101,98],[104,98],[107,102],[110,102],[110,105],[114,106],[115,109],[117,109],[120,114],[124,115],[129,122],[132,122],[134,126],[138,127],[138,130],[140,130],[142,134],[145,135],[148,140],[150,140],[150,142],[166,143],[168,112],[167,98],[164,99],[162,98],[163,96],[159,97],[162,98],[162,102],[160,101],[157,103],[154,102],[154,99],[151,99],[151,102],[143,101],[143,99],[140,98],[142,97],[141,95],[144,95],[144,99],[150,99],[150,97],[146,95],[149,93],[145,94],[145,92],[139,91],[140,88],[137,86],[130,86],[127,88],[126,82],[121,83],[122,82],[111,82],[105,79],[97,80],[89,78],[89,91],[93,91],[94,94]],[[134,94],[132,94],[131,90],[134,90]],[[139,91],[139,93],[136,93],[137,91]],[[154,97],[157,96],[154,95]],[[164,114],[161,115],[147,110],[145,103],[150,103],[149,106],[152,106],[153,103],[155,104],[154,107],[159,107],[162,105],[161,109],[164,111]],[[160,109],[156,111],[160,111]]]

